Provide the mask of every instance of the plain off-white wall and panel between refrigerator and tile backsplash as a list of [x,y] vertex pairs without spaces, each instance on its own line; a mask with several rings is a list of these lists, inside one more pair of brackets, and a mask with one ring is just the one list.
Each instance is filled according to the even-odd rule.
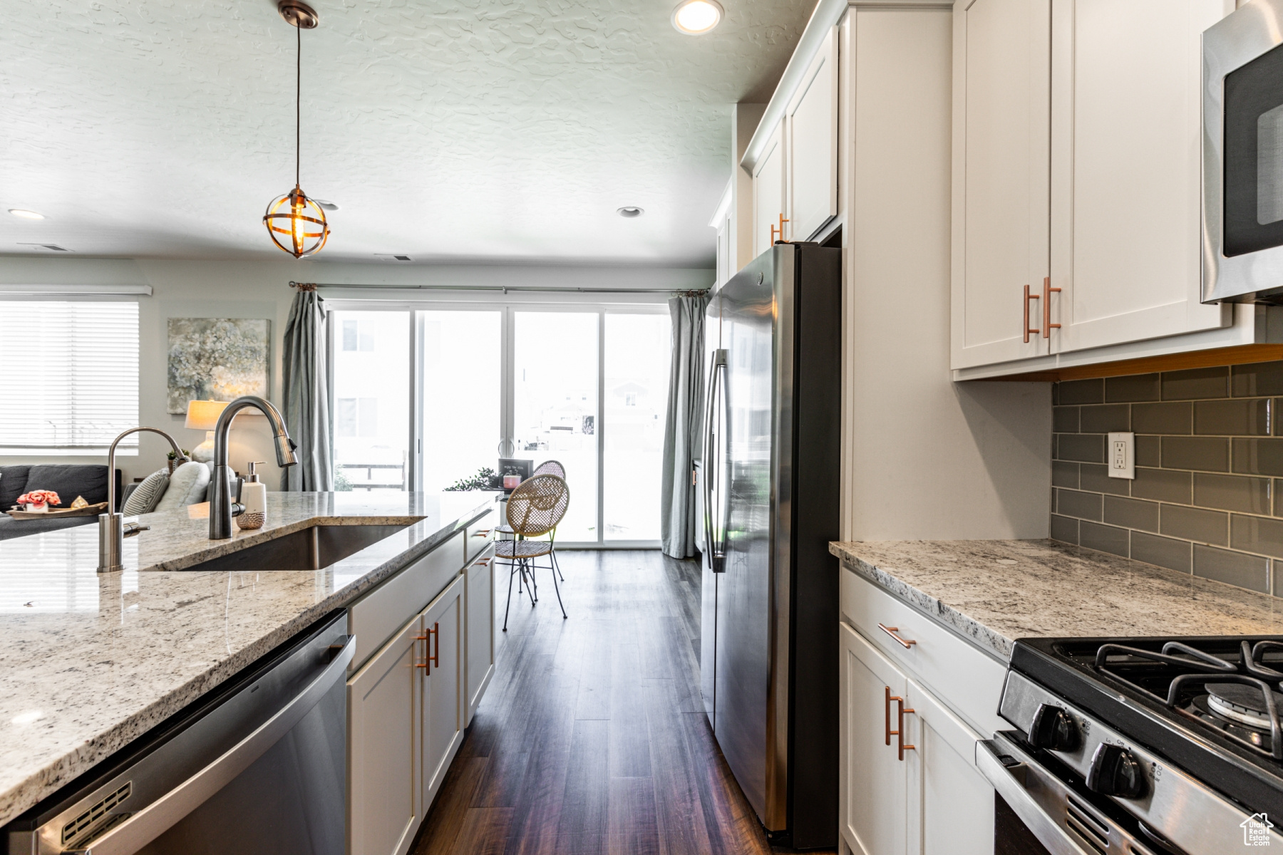
[[952,14],[844,27],[843,537],[1047,537],[1049,383],[949,376]]

